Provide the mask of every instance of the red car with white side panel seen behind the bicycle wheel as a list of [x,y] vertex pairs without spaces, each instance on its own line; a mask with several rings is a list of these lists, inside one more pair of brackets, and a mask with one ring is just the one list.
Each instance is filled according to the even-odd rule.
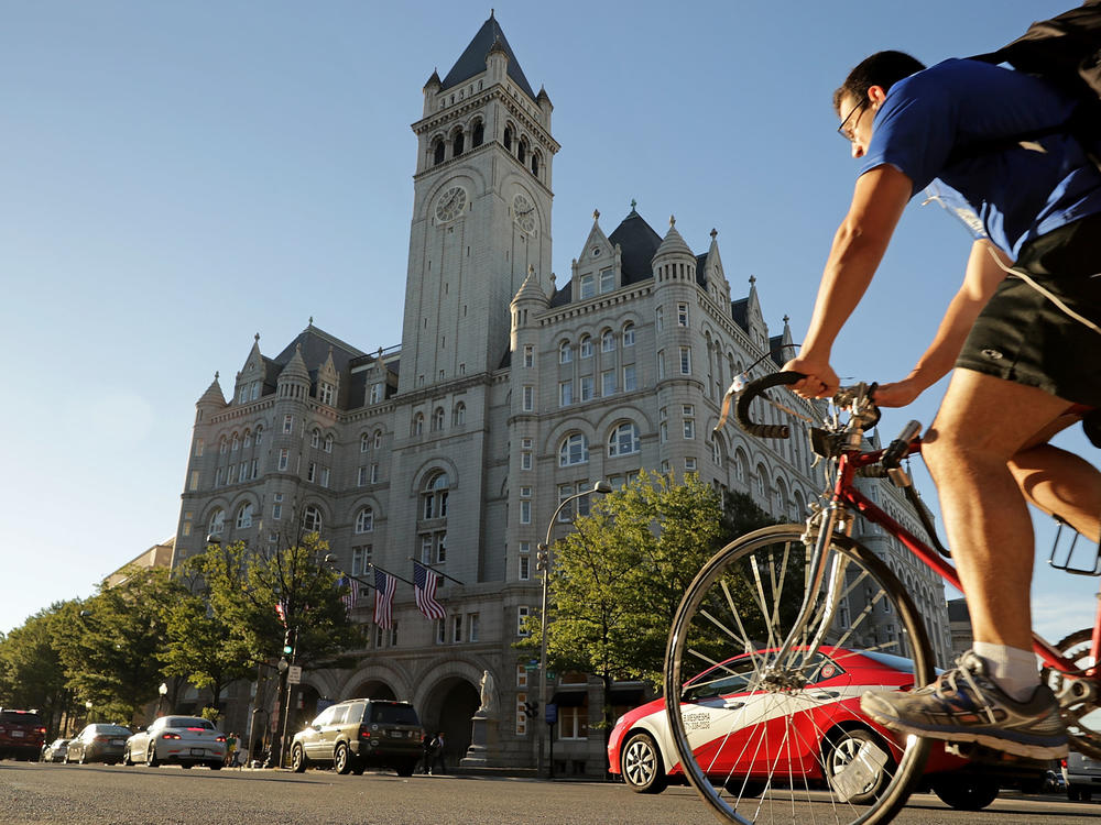
[[[857,804],[873,799],[889,781],[901,747],[897,735],[861,713],[860,697],[872,689],[912,688],[913,663],[886,653],[824,646],[808,659],[804,686],[746,690],[763,652],[729,659],[686,685],[682,713],[697,763],[739,796],[798,784],[829,788]],[[861,748],[863,765],[844,771]],[[664,700],[617,721],[608,763],[637,793],[657,793],[671,781],[684,781]],[[955,807],[978,810],[998,795],[998,778],[972,770],[967,760],[942,748],[934,748],[926,777],[926,784]],[[853,787],[854,778],[859,787]],[[846,782],[849,787],[840,787]]]

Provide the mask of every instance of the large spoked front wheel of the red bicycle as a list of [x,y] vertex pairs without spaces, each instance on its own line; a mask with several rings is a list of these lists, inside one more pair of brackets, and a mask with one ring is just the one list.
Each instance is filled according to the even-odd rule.
[[895,575],[843,536],[791,650],[809,588],[804,527],[751,532],[716,554],[677,608],[665,657],[679,772],[721,822],[889,822],[929,741],[860,711],[869,688],[933,681],[920,617]]

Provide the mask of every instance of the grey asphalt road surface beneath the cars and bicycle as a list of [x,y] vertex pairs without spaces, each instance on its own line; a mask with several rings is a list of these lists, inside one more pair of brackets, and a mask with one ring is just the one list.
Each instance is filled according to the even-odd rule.
[[[816,822],[822,822],[816,818]],[[621,784],[487,777],[331,771],[0,762],[3,825],[702,825],[713,823],[686,788],[656,796]],[[808,822],[808,821],[806,821]],[[900,825],[1099,825],[1101,804],[1006,793],[964,813],[918,794]],[[805,825],[796,818],[793,825]]]

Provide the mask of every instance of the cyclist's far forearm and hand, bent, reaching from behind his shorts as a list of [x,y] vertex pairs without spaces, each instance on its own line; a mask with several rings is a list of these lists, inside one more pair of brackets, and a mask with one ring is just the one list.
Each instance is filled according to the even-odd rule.
[[1006,266],[1012,263],[1004,252],[985,239],[971,245],[963,283],[948,305],[933,343],[917,360],[909,375],[875,391],[875,403],[881,407],[904,407],[952,369],[974,319],[1005,278],[1005,270],[998,265],[991,253]]

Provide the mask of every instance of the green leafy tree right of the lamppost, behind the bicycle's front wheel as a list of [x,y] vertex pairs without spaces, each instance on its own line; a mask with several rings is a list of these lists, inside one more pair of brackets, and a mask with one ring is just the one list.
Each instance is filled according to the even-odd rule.
[[[675,483],[646,473],[595,502],[553,548],[547,658],[556,670],[593,673],[604,683],[662,683],[665,642],[680,598],[704,563],[731,538],[772,524],[744,495],[719,494],[696,475]],[[538,617],[523,647],[537,648]],[[611,707],[604,726],[611,727]]]

